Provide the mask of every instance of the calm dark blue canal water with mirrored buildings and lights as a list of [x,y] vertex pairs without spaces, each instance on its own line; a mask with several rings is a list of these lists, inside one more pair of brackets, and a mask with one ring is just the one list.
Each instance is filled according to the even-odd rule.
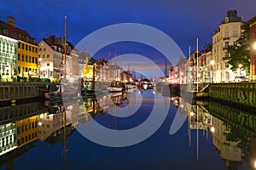
[[254,169],[255,116],[154,89],[0,108],[0,169]]

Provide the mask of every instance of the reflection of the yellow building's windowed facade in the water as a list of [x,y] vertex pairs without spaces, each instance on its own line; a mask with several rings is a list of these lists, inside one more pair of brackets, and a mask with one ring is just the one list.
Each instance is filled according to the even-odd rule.
[[38,116],[17,121],[18,147],[38,139]]

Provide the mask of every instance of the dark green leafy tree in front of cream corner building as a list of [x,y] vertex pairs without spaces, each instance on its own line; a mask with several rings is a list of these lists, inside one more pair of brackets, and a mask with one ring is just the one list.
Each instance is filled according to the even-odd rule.
[[237,71],[239,65],[242,65],[247,74],[250,70],[250,39],[249,39],[249,25],[246,23],[241,27],[241,37],[227,48],[229,56],[228,63],[231,66],[232,71]]

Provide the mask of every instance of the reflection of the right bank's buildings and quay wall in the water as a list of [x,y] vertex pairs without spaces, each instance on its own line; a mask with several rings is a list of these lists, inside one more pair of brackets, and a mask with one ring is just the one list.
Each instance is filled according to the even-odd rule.
[[[173,105],[177,105],[177,98],[171,99]],[[219,156],[226,167],[255,168],[256,116],[213,102],[197,102],[197,105],[191,105],[180,98],[178,101],[178,110],[188,116],[189,140],[191,131],[197,131],[197,135],[198,131],[202,131],[207,137],[212,133],[212,144],[219,151]],[[196,142],[198,146],[198,141]]]

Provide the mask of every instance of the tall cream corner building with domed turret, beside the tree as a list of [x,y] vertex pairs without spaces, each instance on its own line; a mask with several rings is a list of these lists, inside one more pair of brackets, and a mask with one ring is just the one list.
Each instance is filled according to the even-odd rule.
[[230,82],[236,77],[236,72],[231,71],[228,64],[230,54],[226,48],[241,37],[242,18],[237,16],[236,10],[229,10],[212,36],[213,82]]

